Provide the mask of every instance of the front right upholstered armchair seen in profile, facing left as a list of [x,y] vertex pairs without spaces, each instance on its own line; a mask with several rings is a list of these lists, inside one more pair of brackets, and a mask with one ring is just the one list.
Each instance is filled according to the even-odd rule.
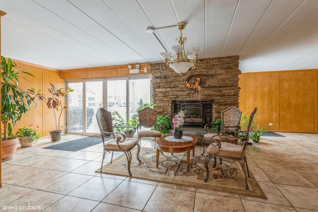
[[[238,145],[231,142],[221,142],[221,141],[227,141],[227,140],[233,139],[233,137],[229,137],[225,135],[215,135],[211,138],[210,145],[207,148],[207,156],[205,157],[205,162],[204,162],[204,166],[207,171],[207,175],[204,178],[205,182],[207,182],[210,176],[209,162],[212,158],[214,158],[213,167],[216,166],[217,158],[220,158],[220,166],[222,165],[222,158],[236,160],[239,162],[239,164],[242,167],[242,171],[245,178],[245,189],[248,190],[246,170],[247,170],[248,177],[249,177],[249,171],[248,171],[247,160],[246,160],[246,144],[248,143],[248,134],[251,131],[252,121],[255,116],[256,110],[257,108],[254,109],[254,111],[251,113],[249,117],[249,122],[248,122],[246,131],[231,131],[232,133],[235,133],[234,135],[238,135],[239,133],[244,134],[243,137],[236,138],[242,141],[242,145]],[[246,169],[245,169],[245,165],[246,165]]]

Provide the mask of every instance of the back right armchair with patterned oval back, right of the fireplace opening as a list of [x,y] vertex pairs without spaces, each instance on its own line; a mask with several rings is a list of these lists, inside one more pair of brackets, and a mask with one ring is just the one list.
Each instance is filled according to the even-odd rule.
[[[218,135],[228,136],[229,138],[226,140],[226,142],[234,142],[236,144],[238,143],[238,134],[235,134],[234,132],[239,130],[239,121],[241,113],[242,112],[234,106],[231,106],[228,109],[223,110],[221,112],[222,128],[218,132]],[[204,141],[210,141],[211,138],[216,135],[215,133],[210,132],[209,126],[206,126],[206,129],[208,129],[208,133],[204,134],[203,140],[201,141],[201,146],[203,147],[203,153],[201,155],[203,155],[205,152],[203,145]]]

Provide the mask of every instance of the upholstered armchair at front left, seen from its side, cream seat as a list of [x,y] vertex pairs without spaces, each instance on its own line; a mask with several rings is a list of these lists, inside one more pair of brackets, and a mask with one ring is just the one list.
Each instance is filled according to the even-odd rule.
[[[103,162],[105,158],[106,152],[112,152],[110,162],[113,162],[113,154],[114,151],[124,152],[127,157],[128,163],[128,174],[131,176],[130,164],[132,160],[131,150],[137,145],[137,159],[139,162],[139,152],[140,145],[137,139],[134,138],[126,138],[123,133],[114,132],[113,131],[113,122],[111,118],[111,112],[107,111],[104,108],[99,108],[96,113],[97,123],[100,130],[100,136],[103,141],[103,158],[101,161],[100,172],[102,172]],[[122,127],[125,128],[125,127]],[[127,126],[127,128],[133,128],[131,126]],[[110,138],[110,140],[109,140]]]

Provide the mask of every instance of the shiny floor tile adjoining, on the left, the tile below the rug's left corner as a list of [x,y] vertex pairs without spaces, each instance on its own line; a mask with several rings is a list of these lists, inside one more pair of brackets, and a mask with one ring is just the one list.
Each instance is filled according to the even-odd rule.
[[67,195],[91,178],[92,176],[88,175],[68,173],[40,187],[39,190]]

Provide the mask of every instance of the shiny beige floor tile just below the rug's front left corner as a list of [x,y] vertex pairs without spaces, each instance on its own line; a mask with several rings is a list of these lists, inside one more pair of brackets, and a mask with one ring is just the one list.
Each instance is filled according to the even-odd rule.
[[69,196],[100,202],[121,182],[123,181],[104,177],[93,177],[71,192]]

